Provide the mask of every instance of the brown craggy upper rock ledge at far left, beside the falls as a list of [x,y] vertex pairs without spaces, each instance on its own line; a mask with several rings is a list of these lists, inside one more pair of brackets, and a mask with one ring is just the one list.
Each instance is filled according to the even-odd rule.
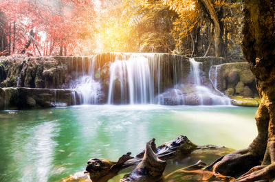
[[0,87],[63,88],[67,65],[53,57],[7,57],[1,60]]

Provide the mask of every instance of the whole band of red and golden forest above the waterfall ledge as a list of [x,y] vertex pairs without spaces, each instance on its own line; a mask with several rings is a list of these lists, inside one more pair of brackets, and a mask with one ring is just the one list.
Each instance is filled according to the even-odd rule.
[[0,1],[0,54],[242,56],[241,1]]

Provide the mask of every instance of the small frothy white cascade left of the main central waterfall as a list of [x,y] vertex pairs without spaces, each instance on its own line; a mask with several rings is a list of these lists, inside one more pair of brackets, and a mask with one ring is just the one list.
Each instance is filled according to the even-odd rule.
[[82,72],[78,73],[78,62],[76,62],[76,80],[70,82],[74,104],[78,98],[80,104],[98,104],[98,96],[100,94],[100,81],[98,80],[97,60],[94,57],[88,58],[89,69],[85,70],[85,58],[82,58]]

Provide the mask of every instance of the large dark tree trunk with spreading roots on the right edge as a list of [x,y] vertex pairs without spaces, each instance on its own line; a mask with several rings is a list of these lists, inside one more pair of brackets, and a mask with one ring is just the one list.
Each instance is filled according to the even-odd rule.
[[215,164],[214,170],[231,176],[246,172],[236,181],[272,181],[275,178],[275,2],[243,0],[243,3],[241,47],[261,97],[255,116],[259,134],[247,149],[225,156]]

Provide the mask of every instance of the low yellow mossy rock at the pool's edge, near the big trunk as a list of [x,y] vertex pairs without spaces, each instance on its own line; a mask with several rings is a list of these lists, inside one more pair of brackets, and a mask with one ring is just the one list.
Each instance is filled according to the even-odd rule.
[[231,96],[231,104],[234,106],[252,106],[258,107],[261,103],[260,98],[244,98],[242,96]]

